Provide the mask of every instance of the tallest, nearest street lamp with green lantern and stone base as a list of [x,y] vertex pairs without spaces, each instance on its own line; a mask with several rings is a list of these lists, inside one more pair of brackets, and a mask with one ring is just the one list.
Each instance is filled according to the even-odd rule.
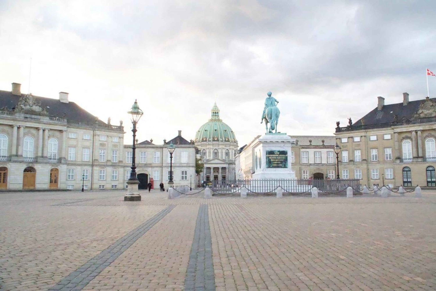
[[135,165],[135,150],[136,150],[136,123],[140,120],[141,116],[144,114],[138,106],[138,102],[135,99],[132,109],[128,111],[131,115],[130,120],[132,121],[133,128],[133,143],[132,143],[132,171],[130,172],[130,178],[127,181],[127,194],[124,196],[124,201],[141,201],[141,195],[138,191],[139,181],[136,178],[136,165]]

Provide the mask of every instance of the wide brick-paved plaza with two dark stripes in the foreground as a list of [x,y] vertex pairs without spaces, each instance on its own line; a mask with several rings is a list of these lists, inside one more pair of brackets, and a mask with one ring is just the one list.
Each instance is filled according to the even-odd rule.
[[0,290],[435,290],[436,192],[0,194]]

